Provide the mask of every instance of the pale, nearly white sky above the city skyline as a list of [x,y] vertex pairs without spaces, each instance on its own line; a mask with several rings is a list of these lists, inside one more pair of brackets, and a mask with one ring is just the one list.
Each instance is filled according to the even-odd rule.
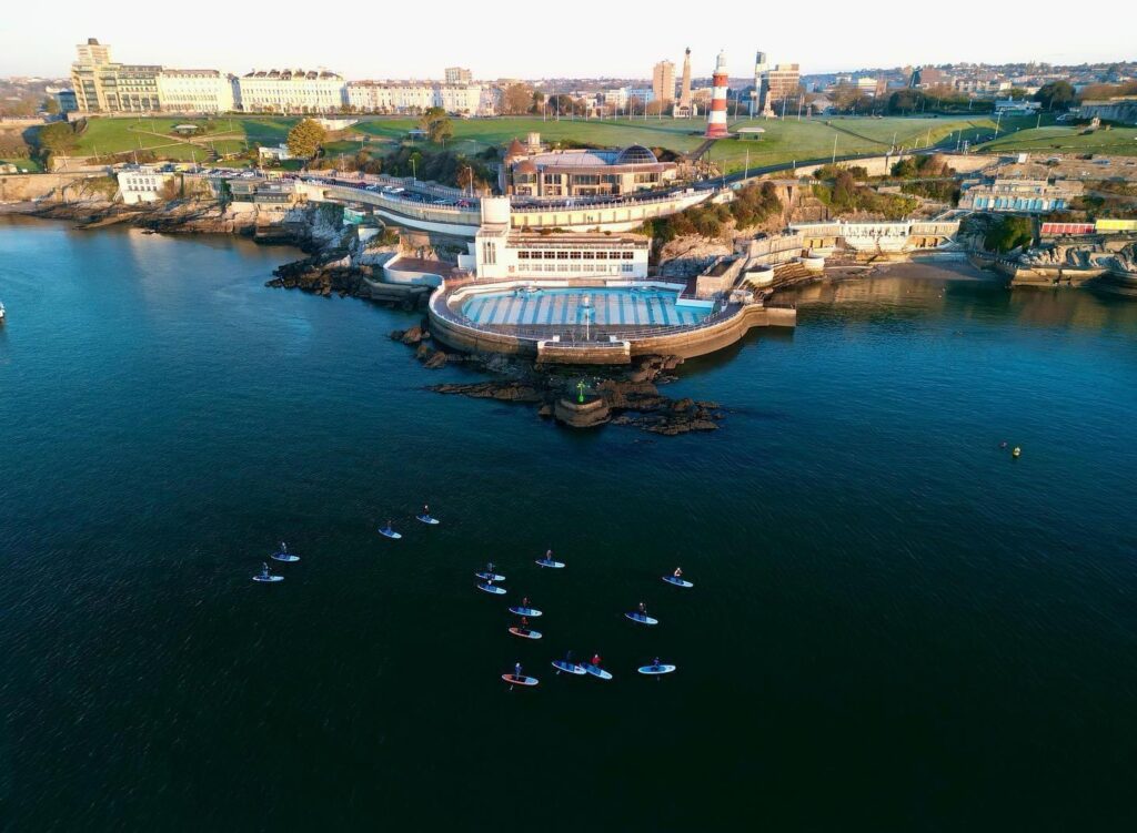
[[[691,11],[663,13],[669,7]],[[1076,17],[1079,8],[1087,10],[1085,23]],[[289,65],[323,66],[349,78],[422,78],[460,65],[482,78],[539,78],[647,77],[661,58],[680,64],[687,45],[697,76],[711,74],[720,49],[735,76],[749,72],[757,49],[773,61],[799,63],[803,73],[949,60],[1122,60],[1137,58],[1135,32],[1132,0],[1084,7],[1023,0],[389,6],[56,0],[14,3],[0,16],[0,75],[66,75],[74,44],[88,38],[111,44],[115,59],[124,63],[232,73]]]

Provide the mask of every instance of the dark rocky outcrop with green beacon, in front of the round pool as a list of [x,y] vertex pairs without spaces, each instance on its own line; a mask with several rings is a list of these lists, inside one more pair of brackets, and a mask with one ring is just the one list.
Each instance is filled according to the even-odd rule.
[[[460,361],[493,376],[484,382],[430,385],[429,390],[471,399],[536,406],[538,416],[556,419],[570,427],[612,424],[675,436],[716,431],[725,417],[717,402],[672,399],[659,392],[658,385],[673,381],[671,372],[682,364],[678,356],[648,356],[632,366],[599,377],[595,375],[598,368],[594,366],[550,368],[497,353],[448,352],[441,345],[430,343],[433,340],[428,322],[408,330],[396,330],[390,338],[414,348],[415,357],[428,369]],[[566,402],[576,402],[576,385],[582,378],[588,388],[588,407],[566,407]]]

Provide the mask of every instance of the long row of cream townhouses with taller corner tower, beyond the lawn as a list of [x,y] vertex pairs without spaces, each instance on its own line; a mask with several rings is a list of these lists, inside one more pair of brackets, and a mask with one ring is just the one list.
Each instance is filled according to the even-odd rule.
[[497,105],[497,91],[474,83],[460,67],[448,68],[445,82],[348,82],[326,69],[236,76],[217,69],[119,64],[111,60],[110,47],[93,38],[76,51],[70,77],[80,113],[418,113],[441,107],[491,115]]

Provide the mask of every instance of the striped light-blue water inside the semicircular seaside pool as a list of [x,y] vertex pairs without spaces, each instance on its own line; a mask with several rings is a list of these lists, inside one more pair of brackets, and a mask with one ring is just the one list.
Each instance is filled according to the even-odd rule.
[[[590,307],[583,303],[586,297]],[[678,292],[657,289],[507,290],[478,294],[463,303],[462,313],[476,324],[583,324],[591,313],[594,325],[658,327],[697,324],[711,311],[709,306],[678,300]]]

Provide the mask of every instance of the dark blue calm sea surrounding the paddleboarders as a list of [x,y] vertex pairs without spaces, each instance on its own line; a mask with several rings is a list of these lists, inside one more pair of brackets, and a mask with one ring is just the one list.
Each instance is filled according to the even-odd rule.
[[816,285],[652,441],[423,390],[291,257],[0,220],[0,826],[1132,828],[1137,303]]

